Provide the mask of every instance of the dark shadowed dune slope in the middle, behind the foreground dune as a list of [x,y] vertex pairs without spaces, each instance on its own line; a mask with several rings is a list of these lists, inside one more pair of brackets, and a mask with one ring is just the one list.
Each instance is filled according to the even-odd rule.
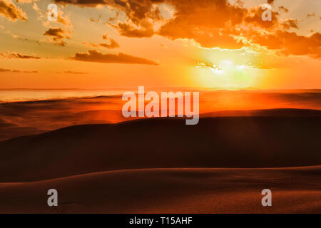
[[0,142],[0,182],[158,167],[320,165],[320,116],[144,119]]

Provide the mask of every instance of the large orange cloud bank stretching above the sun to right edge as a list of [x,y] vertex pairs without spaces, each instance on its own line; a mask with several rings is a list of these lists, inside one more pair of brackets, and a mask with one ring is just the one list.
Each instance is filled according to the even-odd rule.
[[[110,24],[121,36],[143,38],[160,35],[171,40],[189,39],[203,48],[240,49],[244,46],[264,46],[279,49],[282,54],[320,56],[320,33],[302,36],[287,33],[298,28],[297,19],[280,21],[278,11],[272,11],[272,21],[263,21],[262,6],[243,6],[242,1],[233,5],[228,0],[55,0],[61,4],[81,7],[108,5],[122,11],[126,21]],[[267,0],[273,4],[273,0]],[[159,4],[173,8],[173,16],[162,18]],[[275,7],[287,12],[285,6]],[[299,42],[299,43],[297,43]],[[301,43],[302,42],[302,43]],[[297,49],[297,50],[296,50]]]

